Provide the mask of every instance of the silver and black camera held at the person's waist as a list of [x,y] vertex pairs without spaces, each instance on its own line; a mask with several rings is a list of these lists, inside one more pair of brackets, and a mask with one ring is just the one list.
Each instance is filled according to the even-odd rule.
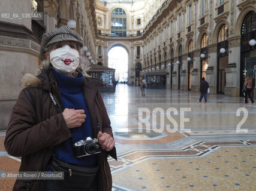
[[74,143],[73,147],[76,158],[95,155],[101,152],[98,138],[85,137],[85,140],[80,140]]

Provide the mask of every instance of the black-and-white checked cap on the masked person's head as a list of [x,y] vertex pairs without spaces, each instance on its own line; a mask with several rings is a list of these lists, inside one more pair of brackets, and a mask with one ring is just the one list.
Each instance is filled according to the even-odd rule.
[[74,30],[70,29],[68,26],[62,26],[58,29],[52,30],[50,32],[44,33],[41,47],[40,47],[40,56],[41,59],[44,57],[44,48],[47,48],[49,45],[61,41],[75,41],[83,47],[83,38]]

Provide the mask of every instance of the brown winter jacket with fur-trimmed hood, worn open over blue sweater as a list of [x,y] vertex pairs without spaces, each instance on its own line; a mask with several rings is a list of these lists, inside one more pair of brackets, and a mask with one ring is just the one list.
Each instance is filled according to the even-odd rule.
[[[112,135],[109,116],[101,98],[98,87],[100,81],[85,77],[83,94],[91,115],[94,137],[97,137],[97,119],[101,131]],[[23,87],[28,87],[34,104],[28,100],[24,90],[20,93],[11,113],[10,122],[4,141],[5,149],[12,156],[21,156],[20,171],[46,171],[47,162],[53,147],[71,138],[62,113],[57,113],[50,99],[49,92],[55,94],[61,102],[61,94],[52,70],[42,72],[39,76],[27,75],[23,78]],[[63,107],[62,107],[63,108]],[[112,190],[112,175],[107,156],[116,159],[115,147],[110,151],[97,154],[100,173],[98,173],[99,191]],[[16,180],[13,190],[43,191],[45,180]]]

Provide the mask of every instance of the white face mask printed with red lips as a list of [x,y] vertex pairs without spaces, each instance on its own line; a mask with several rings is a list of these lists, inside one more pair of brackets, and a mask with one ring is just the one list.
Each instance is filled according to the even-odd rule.
[[50,52],[50,61],[53,67],[61,73],[73,73],[79,65],[79,52],[64,45]]

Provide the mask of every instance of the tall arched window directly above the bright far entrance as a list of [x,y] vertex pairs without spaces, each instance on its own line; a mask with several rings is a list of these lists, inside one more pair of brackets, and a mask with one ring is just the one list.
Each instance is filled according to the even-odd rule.
[[127,14],[122,8],[116,8],[112,11],[111,35],[127,36]]

